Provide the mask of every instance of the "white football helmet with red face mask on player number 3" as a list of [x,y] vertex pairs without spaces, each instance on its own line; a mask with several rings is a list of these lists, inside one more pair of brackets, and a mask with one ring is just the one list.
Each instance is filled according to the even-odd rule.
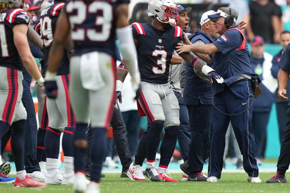
[[174,0],[150,0],[148,3],[148,17],[155,17],[162,23],[176,25],[179,9]]

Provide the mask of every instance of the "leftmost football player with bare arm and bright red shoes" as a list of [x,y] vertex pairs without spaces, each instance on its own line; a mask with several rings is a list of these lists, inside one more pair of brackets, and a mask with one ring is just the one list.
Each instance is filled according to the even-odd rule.
[[[27,176],[24,169],[24,138],[27,113],[21,101],[23,93],[23,65],[44,90],[41,76],[27,41],[29,16],[21,8],[28,8],[25,1],[0,2],[0,73],[2,81],[0,100],[0,138],[11,131],[11,147],[16,166],[15,187],[41,187],[45,183]],[[21,8],[19,8],[21,7]],[[22,62],[21,62],[22,60]]]

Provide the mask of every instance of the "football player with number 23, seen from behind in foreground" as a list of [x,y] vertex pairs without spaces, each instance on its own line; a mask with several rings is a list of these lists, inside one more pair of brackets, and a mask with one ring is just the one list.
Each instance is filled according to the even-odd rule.
[[63,56],[64,43],[71,29],[75,52],[70,60],[70,99],[76,115],[74,134],[74,168],[76,180],[73,191],[85,191],[85,132],[89,119],[93,129],[91,144],[91,183],[87,192],[99,192],[101,166],[105,156],[106,133],[115,100],[116,81],[115,37],[120,38],[120,50],[132,76],[140,84],[136,65],[134,41],[128,26],[128,0],[83,1],[66,4],[59,16],[45,74],[47,96],[56,95],[55,72]]

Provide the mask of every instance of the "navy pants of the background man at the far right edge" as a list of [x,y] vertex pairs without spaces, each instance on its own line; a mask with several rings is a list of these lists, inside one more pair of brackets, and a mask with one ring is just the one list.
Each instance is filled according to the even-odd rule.
[[286,131],[286,123],[287,123],[287,109],[289,108],[288,102],[280,102],[276,103],[276,112],[277,112],[277,120],[279,125],[279,139],[280,143],[282,143],[284,138],[284,133]]

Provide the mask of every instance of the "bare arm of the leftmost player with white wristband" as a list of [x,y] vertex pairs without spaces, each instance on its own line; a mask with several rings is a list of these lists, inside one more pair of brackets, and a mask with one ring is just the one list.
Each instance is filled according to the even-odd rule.
[[44,80],[38,70],[33,55],[31,54],[27,40],[27,24],[18,24],[13,27],[13,40],[19,56],[26,70],[37,80],[40,87],[43,86]]

